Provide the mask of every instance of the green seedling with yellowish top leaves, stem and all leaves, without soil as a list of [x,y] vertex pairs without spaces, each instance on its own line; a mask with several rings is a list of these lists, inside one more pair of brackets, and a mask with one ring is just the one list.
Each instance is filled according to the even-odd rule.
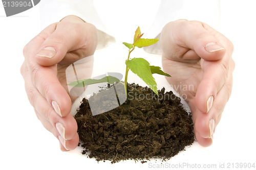
[[[134,72],[134,74],[139,76],[158,95],[157,83],[155,81],[155,78],[153,77],[153,74],[159,74],[167,77],[170,77],[170,75],[163,72],[160,67],[150,65],[150,63],[148,63],[143,58],[130,59],[130,55],[134,51],[135,47],[142,48],[145,46],[150,46],[155,44],[159,40],[159,39],[144,39],[144,38],[141,38],[142,35],[143,34],[141,34],[140,28],[138,27],[137,30],[135,31],[133,43],[131,44],[131,43],[123,42],[123,44],[127,48],[129,48],[128,58],[125,61],[125,64],[126,64],[125,78],[124,78],[125,92],[127,94],[127,77],[128,77],[129,70],[131,70]],[[87,85],[103,83],[103,82],[114,84],[115,82],[120,82],[120,80],[112,76],[106,76],[99,80],[96,80],[96,79],[78,80],[68,85],[75,86],[75,87],[84,87]]]

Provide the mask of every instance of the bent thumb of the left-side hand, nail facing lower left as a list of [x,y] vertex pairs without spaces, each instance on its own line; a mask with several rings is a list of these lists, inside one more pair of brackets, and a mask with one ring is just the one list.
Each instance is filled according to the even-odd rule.
[[[90,23],[58,22],[38,48],[35,59],[40,65],[51,66],[63,60],[68,53],[68,61],[77,61],[81,53],[84,57],[93,55],[96,46],[97,30]],[[69,54],[78,49],[82,51]]]

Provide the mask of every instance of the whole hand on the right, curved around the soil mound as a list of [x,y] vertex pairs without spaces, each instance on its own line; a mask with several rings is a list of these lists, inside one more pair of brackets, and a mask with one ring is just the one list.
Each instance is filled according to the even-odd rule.
[[205,23],[187,20],[167,23],[160,40],[167,81],[185,96],[196,139],[207,147],[230,97],[233,45]]

